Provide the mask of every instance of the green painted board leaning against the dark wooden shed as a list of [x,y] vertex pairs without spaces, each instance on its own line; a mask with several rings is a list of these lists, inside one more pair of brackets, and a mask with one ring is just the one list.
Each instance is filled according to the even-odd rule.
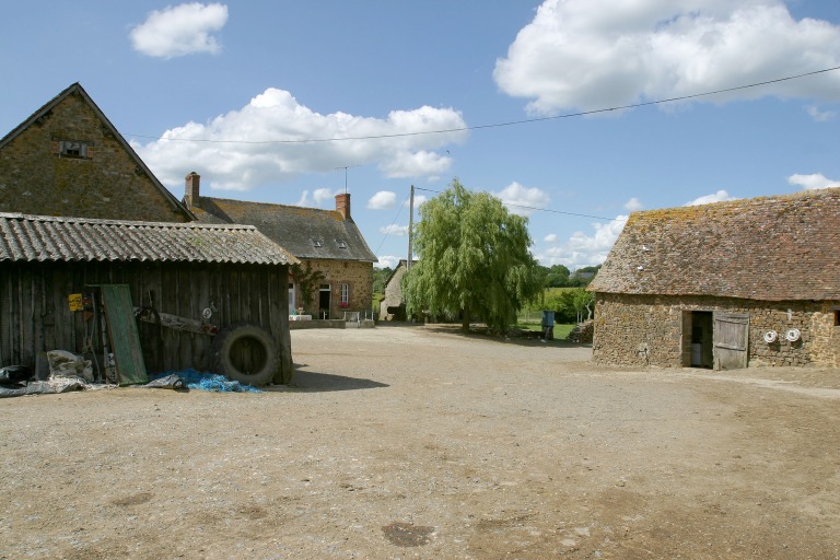
[[135,322],[135,306],[128,284],[102,284],[102,301],[108,337],[120,385],[147,383],[143,351]]

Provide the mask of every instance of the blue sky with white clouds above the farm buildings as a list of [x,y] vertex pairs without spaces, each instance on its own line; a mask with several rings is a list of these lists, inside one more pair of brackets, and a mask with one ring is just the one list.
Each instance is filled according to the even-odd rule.
[[80,82],[178,198],[191,171],[284,205],[347,185],[378,266],[410,185],[454,177],[571,269],[631,211],[840,186],[837,0],[30,0],[0,47],[0,136]]

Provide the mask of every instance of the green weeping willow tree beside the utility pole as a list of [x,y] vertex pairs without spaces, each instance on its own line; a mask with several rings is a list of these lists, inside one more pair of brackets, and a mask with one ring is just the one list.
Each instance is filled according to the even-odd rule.
[[527,219],[458,179],[420,208],[413,246],[418,262],[402,278],[409,314],[472,317],[505,330],[516,312],[541,293]]

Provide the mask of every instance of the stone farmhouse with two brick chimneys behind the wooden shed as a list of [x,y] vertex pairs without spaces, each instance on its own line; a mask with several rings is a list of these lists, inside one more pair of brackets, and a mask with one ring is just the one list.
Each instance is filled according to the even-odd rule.
[[201,196],[201,177],[186,176],[184,203],[201,222],[255,225],[268,238],[282,244],[304,267],[323,278],[311,287],[312,302],[305,303],[302,283],[289,280],[289,313],[304,313],[320,319],[343,318],[348,312],[362,317],[371,311],[373,264],[376,256],[353,222],[350,195],[336,195],[335,210],[246,202]]

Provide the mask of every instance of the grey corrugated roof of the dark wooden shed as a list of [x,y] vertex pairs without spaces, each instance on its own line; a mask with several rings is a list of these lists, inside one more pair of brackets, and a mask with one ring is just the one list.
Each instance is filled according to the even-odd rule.
[[0,261],[141,260],[284,265],[252,225],[131,222],[0,212]]

